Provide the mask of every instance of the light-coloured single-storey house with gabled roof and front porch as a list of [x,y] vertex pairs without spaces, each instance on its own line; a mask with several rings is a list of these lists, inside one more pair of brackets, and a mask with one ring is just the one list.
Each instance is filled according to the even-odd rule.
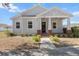
[[46,9],[36,5],[11,18],[13,32],[28,35],[63,33],[62,21],[67,19],[67,30],[70,31],[70,17],[72,16],[57,7]]

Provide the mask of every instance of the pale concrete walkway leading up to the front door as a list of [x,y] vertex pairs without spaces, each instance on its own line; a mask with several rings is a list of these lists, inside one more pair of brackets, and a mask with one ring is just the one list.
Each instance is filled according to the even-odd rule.
[[41,41],[40,41],[40,48],[43,49],[43,48],[47,48],[47,49],[54,49],[55,46],[53,45],[52,41],[48,38],[48,37],[43,37],[41,38]]

